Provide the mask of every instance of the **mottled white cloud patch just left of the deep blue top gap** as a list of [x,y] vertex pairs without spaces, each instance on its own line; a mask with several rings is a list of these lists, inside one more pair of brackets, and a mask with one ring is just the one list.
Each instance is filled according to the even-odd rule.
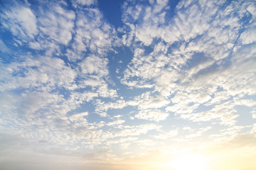
[[105,22],[97,8],[79,9],[76,13],[72,49],[66,54],[69,60],[82,59],[83,52],[93,52],[102,57],[112,50],[112,45],[117,45],[114,27]]

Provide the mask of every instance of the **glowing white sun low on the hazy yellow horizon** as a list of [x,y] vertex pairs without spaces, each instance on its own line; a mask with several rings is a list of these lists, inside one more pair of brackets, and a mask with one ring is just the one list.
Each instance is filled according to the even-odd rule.
[[174,170],[206,170],[207,162],[208,159],[201,154],[183,154],[164,166]]

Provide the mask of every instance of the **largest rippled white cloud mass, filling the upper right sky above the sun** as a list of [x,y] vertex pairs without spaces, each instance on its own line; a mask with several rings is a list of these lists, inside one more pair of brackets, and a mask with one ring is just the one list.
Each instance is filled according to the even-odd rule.
[[[162,96],[175,94],[169,99],[174,104],[167,107],[166,111],[179,113],[181,118],[192,118],[191,120],[196,121],[220,118],[221,123],[233,125],[235,118],[238,117],[234,109],[236,104],[239,105],[238,102],[232,104],[233,108],[223,111],[227,115],[217,114],[217,117],[215,114],[218,111],[213,110],[211,113],[201,113],[197,119],[196,109],[202,104],[218,108],[220,102],[233,100],[233,96],[253,94],[252,82],[255,82],[255,79],[253,79],[252,67],[254,66],[252,65],[255,62],[250,59],[255,53],[252,50],[254,45],[234,46],[235,41],[239,38],[238,31],[241,30],[242,17],[247,15],[248,4],[231,3],[225,10],[217,11],[218,6],[223,2],[220,1],[216,4],[203,1],[190,3],[180,2],[178,8],[181,10],[174,15],[174,18],[171,18],[170,23],[166,21],[161,23],[162,16],[159,13],[154,13],[149,6],[142,7],[137,4],[137,7],[129,7],[131,4],[124,5],[124,8],[139,13],[136,15],[137,18],[132,20],[129,18],[131,12],[124,12],[124,21],[130,27],[129,36],[134,37],[135,42],[153,46],[154,51],[145,54],[142,47],[135,47],[134,57],[124,71],[124,78],[121,82],[136,88],[146,88],[149,87],[146,84],[150,84],[150,87],[159,91]],[[138,11],[139,6],[141,9]],[[239,8],[238,6],[242,6],[239,11],[235,10]],[[200,8],[204,8],[204,11],[199,10]],[[164,13],[162,15],[164,16]],[[151,26],[150,22],[146,23],[144,20],[149,20],[152,23],[158,21],[159,23],[154,23]],[[156,26],[161,33],[156,30]],[[165,29],[162,30],[162,28]],[[151,31],[147,31],[147,29]],[[246,29],[246,31],[249,30],[250,28]],[[174,35],[168,36],[167,32]],[[243,33],[241,35],[240,38],[243,38]],[[154,43],[154,38],[162,38],[162,40]],[[123,40],[126,39],[123,38]],[[127,42],[124,44],[130,45],[130,40],[132,39],[127,38]],[[185,45],[183,40],[188,43]],[[171,47],[171,43],[174,41],[180,42],[178,47]],[[234,53],[233,47],[235,47]],[[247,50],[245,50],[246,48]],[[227,59],[228,57],[231,57],[231,60]],[[248,58],[250,63],[245,61],[245,58]],[[224,67],[225,65],[227,66]],[[242,79],[246,79],[246,81],[242,81]],[[242,82],[246,82],[246,85]],[[220,93],[218,87],[223,88],[225,93],[224,91]],[[159,103],[164,101],[166,98],[159,99]],[[241,102],[242,100],[240,100]],[[143,106],[143,102],[141,104]],[[252,106],[249,103],[245,105]],[[146,103],[145,106],[151,107],[152,104]]]

